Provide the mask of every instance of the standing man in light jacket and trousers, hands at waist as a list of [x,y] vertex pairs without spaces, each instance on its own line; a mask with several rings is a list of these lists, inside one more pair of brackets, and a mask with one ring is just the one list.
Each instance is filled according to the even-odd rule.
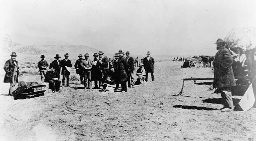
[[[83,68],[83,76],[84,76],[84,88],[92,89],[92,73],[91,73],[91,60],[89,60],[89,54],[85,53],[85,59],[81,62],[81,67]],[[88,82],[88,83],[87,83]]]

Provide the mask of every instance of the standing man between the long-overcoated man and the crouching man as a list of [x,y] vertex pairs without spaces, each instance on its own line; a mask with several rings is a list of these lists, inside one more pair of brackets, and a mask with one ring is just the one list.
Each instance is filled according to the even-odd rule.
[[127,72],[127,77],[128,77],[128,88],[134,87],[134,78],[132,77],[133,71],[134,71],[134,59],[132,58],[132,56],[130,56],[129,51],[127,51],[126,53],[126,60],[128,63],[128,72]]

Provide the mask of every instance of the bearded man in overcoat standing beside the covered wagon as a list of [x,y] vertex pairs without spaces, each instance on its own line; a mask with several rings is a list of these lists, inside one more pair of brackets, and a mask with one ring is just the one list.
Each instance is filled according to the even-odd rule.
[[213,60],[214,79],[213,88],[219,88],[223,108],[220,110],[233,111],[234,105],[231,94],[231,87],[236,85],[234,73],[232,70],[233,58],[230,51],[225,47],[226,43],[222,39],[218,39],[216,43],[219,50]]

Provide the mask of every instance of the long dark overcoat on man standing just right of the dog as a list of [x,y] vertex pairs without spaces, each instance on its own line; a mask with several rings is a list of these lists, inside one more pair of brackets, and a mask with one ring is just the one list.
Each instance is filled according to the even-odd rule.
[[115,63],[116,66],[116,82],[127,82],[127,71],[128,71],[128,63],[125,57],[119,58]]

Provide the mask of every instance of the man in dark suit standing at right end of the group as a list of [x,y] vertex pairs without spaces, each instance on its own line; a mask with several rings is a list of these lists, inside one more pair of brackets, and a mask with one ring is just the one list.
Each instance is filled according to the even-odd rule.
[[154,58],[153,57],[150,57],[150,54],[149,51],[147,53],[147,57],[144,58],[143,60],[143,64],[144,64],[144,69],[146,71],[146,78],[145,78],[145,81],[148,82],[148,73],[151,73],[151,79],[152,79],[152,82],[155,81],[155,77],[154,77],[154,64],[155,64],[155,61],[154,61]]

